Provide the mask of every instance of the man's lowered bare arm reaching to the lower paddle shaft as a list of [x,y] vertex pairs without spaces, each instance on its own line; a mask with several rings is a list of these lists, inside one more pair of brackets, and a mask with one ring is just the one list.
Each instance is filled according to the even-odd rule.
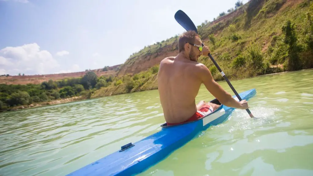
[[228,92],[226,92],[214,79],[210,70],[203,64],[198,64],[199,77],[207,90],[218,99],[220,103],[228,107],[234,107],[239,109],[247,109],[247,101],[236,101]]

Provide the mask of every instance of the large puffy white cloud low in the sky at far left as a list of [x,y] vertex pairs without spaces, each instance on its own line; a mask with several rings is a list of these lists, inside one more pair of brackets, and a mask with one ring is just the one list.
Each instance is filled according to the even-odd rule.
[[59,63],[38,44],[24,44],[0,50],[0,70],[9,75],[49,74],[59,68]]

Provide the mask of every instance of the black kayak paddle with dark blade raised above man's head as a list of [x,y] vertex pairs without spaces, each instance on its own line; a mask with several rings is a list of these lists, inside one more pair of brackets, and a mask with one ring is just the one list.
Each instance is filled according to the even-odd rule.
[[[191,19],[187,16],[186,13],[184,13],[182,10],[178,10],[175,15],[174,18],[176,19],[176,21],[183,27],[185,28],[187,31],[189,30],[194,30],[196,31],[196,33],[198,34],[198,30],[196,28],[196,26],[194,25],[194,23],[191,21]],[[202,43],[202,46],[203,43]],[[237,96],[237,98],[239,99],[239,101],[242,101],[241,97],[239,96],[239,94],[237,93],[237,91],[235,90],[235,88],[233,87],[233,85],[229,82],[229,80],[227,79],[226,75],[224,74],[224,72],[222,71],[222,69],[218,66],[218,64],[215,62],[215,60],[213,59],[212,55],[209,53],[208,56],[210,57],[210,59],[212,60],[212,62],[214,63],[214,65],[216,66],[216,68],[218,69],[218,71],[221,73],[221,75],[223,76],[223,78],[226,80],[227,84],[230,86],[230,88],[233,90],[233,92],[235,93],[235,95]],[[246,109],[246,111],[248,112],[249,116],[251,118],[254,118],[254,116],[252,115],[252,113],[250,112],[249,109]]]

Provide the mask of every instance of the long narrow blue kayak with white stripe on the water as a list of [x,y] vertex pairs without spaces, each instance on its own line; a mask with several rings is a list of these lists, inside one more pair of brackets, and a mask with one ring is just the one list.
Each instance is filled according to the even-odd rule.
[[[248,100],[256,94],[255,89],[239,93],[243,100]],[[237,101],[238,98],[233,96]],[[210,101],[221,105],[217,99]],[[129,143],[120,150],[111,153],[89,165],[82,167],[68,176],[76,175],[135,175],[145,171],[165,159],[176,149],[196,137],[210,126],[225,122],[235,108],[221,105],[211,114],[193,122],[167,126],[140,141]]]

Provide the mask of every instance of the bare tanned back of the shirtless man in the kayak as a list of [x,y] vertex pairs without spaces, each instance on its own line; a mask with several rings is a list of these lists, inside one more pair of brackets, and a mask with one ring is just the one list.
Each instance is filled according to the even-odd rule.
[[197,75],[197,64],[178,57],[168,57],[160,63],[158,90],[161,104],[166,107],[163,112],[167,122],[184,122],[198,110],[195,98],[202,81]]

